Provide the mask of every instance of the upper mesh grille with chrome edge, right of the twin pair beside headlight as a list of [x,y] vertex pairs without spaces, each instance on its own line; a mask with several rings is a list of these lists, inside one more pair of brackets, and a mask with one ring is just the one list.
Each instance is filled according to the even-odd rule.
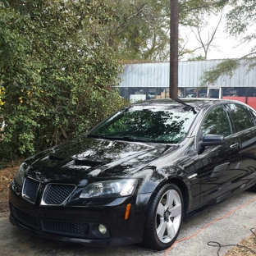
[[75,190],[75,185],[48,184],[43,192],[42,205],[61,205]]

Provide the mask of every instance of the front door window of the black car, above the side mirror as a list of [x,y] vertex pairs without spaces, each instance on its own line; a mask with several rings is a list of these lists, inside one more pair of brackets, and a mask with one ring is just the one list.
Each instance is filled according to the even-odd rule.
[[213,107],[203,120],[204,135],[231,135],[231,124],[222,105]]

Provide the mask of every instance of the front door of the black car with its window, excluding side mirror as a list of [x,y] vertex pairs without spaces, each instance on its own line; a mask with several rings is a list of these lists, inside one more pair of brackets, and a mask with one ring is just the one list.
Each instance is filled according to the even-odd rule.
[[212,107],[199,128],[199,141],[205,135],[222,135],[224,144],[205,146],[199,152],[200,204],[214,204],[229,197],[240,176],[240,139],[233,133],[226,107]]

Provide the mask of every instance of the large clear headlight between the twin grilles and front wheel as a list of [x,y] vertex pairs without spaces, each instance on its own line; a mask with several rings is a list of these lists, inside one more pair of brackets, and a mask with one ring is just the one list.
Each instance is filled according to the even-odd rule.
[[102,181],[89,184],[80,194],[81,199],[112,198],[133,194],[137,180]]

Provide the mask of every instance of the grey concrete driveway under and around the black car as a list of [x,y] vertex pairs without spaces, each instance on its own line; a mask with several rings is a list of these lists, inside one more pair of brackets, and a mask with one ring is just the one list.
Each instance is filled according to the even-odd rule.
[[[249,203],[251,200],[251,203]],[[245,203],[248,203],[245,205]],[[242,208],[239,208],[243,206]],[[239,209],[237,209],[239,208]],[[213,222],[218,217],[225,218]],[[141,245],[130,245],[117,248],[85,247],[71,243],[46,240],[34,237],[21,231],[16,226],[11,226],[8,220],[9,213],[0,213],[0,255],[1,256],[126,256],[126,255],[179,255],[179,256],[214,256],[217,255],[217,247],[208,246],[209,241],[216,241],[221,245],[235,245],[250,235],[250,228],[256,227],[256,194],[245,191],[243,194],[218,204],[208,212],[194,220],[183,223],[178,240],[194,235],[189,240],[176,244],[169,252],[154,251]],[[220,255],[226,254],[229,248],[221,249]]]

